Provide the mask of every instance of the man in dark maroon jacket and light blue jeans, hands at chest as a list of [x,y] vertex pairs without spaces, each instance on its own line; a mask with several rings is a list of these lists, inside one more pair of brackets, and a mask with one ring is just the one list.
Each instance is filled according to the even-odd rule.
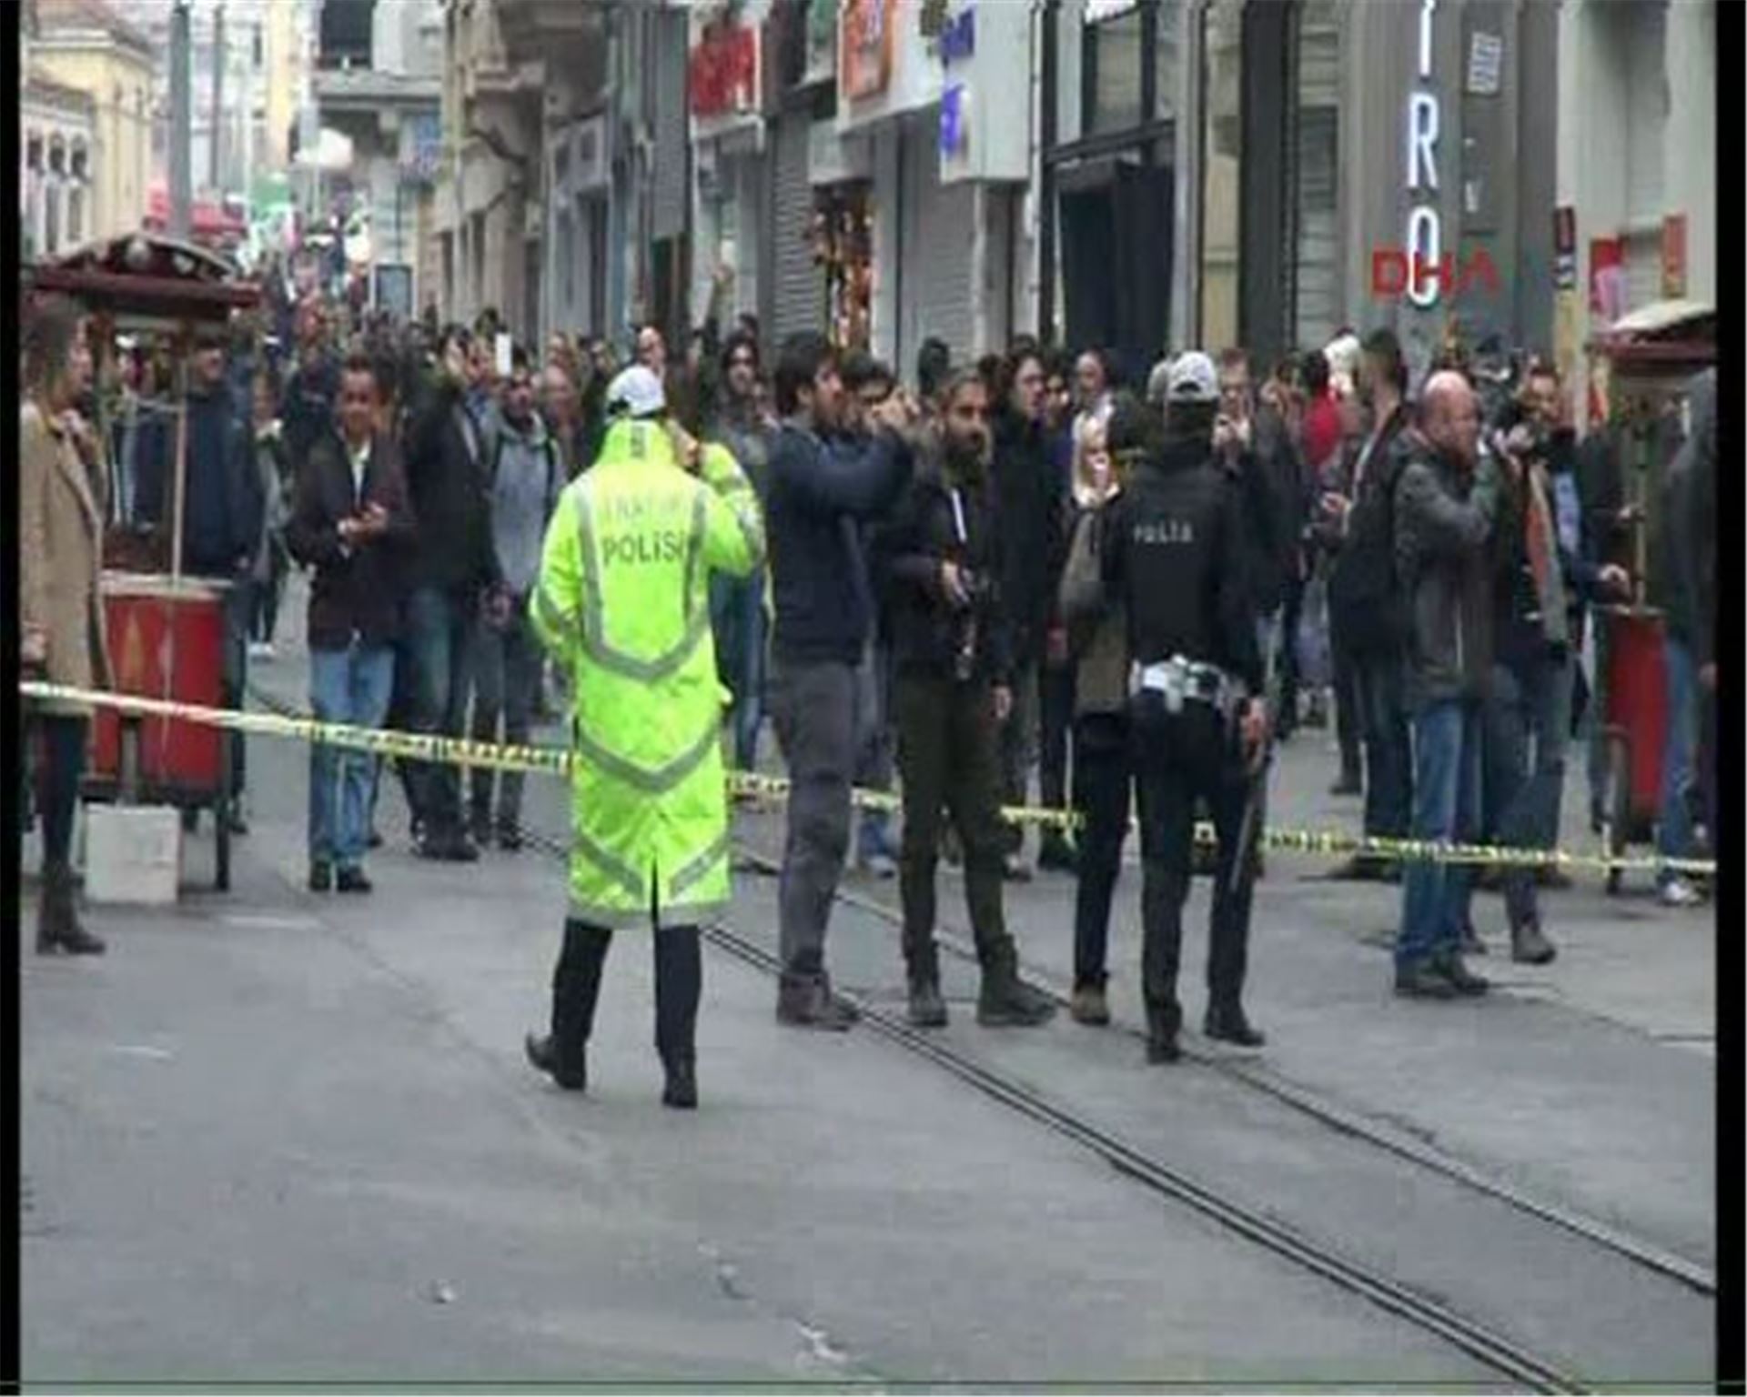
[[[323,723],[381,726],[395,681],[405,541],[405,478],[390,435],[376,431],[381,388],[365,358],[341,374],[341,433],[321,437],[297,480],[287,527],[292,557],[314,568],[309,590],[309,698]],[[369,892],[367,753],[309,749],[309,891]]]

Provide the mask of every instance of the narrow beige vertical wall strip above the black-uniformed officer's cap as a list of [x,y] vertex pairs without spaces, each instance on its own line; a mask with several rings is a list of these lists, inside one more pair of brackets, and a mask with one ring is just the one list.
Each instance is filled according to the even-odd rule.
[[1202,218],[1198,344],[1237,344],[1239,197],[1244,169],[1244,0],[1202,10]]

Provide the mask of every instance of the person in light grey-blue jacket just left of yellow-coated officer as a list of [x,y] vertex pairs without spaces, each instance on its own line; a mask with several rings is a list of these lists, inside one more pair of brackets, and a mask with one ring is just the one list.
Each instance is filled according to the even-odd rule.
[[[503,402],[487,435],[486,489],[491,498],[491,550],[496,582],[486,590],[473,650],[473,740],[524,746],[540,688],[542,650],[528,618],[528,597],[540,576],[540,545],[564,489],[557,444],[535,412],[535,375],[517,351]],[[496,821],[493,821],[496,796]],[[473,842],[522,847],[522,774],[475,767],[470,796]]]

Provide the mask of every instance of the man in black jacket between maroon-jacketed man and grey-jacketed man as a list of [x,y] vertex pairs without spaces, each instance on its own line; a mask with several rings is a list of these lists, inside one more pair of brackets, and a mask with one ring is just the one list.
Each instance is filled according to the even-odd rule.
[[[466,403],[466,332],[442,339],[437,382],[414,416],[407,440],[407,492],[419,522],[411,568],[407,643],[412,657],[407,725],[412,732],[461,737],[472,688],[473,630],[487,590],[501,585],[491,547],[484,428]],[[473,863],[461,819],[461,774],[447,763],[409,763],[421,857]]]

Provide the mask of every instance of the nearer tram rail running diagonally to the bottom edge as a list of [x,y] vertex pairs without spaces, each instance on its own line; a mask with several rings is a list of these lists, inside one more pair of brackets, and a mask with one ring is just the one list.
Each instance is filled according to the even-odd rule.
[[[568,857],[566,840],[533,828],[524,828],[522,833],[528,843],[542,854],[559,859]],[[762,971],[772,980],[781,974],[777,957],[730,927],[715,924],[701,931],[704,939],[718,952]],[[861,995],[840,994],[860,1011],[861,1023],[879,1037],[949,1072],[1008,1111],[1080,1146],[1148,1193],[1181,1203],[1263,1250],[1438,1336],[1523,1390],[1550,1394],[1590,1390],[1586,1383],[1560,1364],[1469,1318],[1454,1306],[1403,1285],[1377,1268],[1343,1256],[1286,1222],[1268,1217],[1230,1194],[1188,1177],[1155,1154],[1102,1128],[1088,1116],[1052,1100],[1043,1091],[1006,1072],[978,1062],[940,1037],[914,1029],[901,1015],[882,1009]]]

